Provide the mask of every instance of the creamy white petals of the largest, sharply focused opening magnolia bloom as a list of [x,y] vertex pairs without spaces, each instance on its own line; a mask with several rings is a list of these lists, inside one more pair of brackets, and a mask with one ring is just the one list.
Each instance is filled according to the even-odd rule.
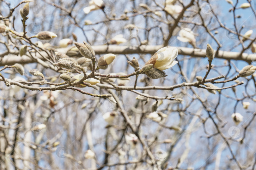
[[156,55],[154,55],[155,57],[157,57],[157,59],[155,61],[153,68],[157,68],[159,70],[166,70],[168,68],[171,68],[172,66],[178,63],[178,61],[174,61],[177,55],[178,49],[176,47],[163,47],[159,49],[156,52]]

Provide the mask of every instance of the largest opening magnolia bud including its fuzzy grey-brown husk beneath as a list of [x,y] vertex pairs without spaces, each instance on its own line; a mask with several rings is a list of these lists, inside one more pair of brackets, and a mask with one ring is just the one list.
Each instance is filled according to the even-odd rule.
[[153,68],[149,71],[145,71],[145,74],[152,79],[165,77],[165,72],[168,68],[171,68],[178,62],[174,59],[178,55],[178,49],[176,47],[163,47],[159,49],[145,65],[152,64]]

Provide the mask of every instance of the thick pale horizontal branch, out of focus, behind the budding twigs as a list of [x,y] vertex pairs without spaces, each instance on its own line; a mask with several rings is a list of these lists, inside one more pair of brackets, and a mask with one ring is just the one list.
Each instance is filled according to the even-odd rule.
[[[117,45],[96,45],[92,46],[92,48],[95,51],[95,54],[154,54],[157,50],[162,48],[162,45],[142,45],[142,46],[117,46]],[[206,49],[197,49],[197,48],[186,48],[186,47],[177,47],[179,55],[188,55],[191,57],[206,57]],[[70,48],[61,48],[61,50],[68,51]],[[56,49],[59,50],[59,49]],[[216,51],[215,51],[216,52]],[[15,52],[15,54],[19,54],[19,52]],[[26,55],[23,55],[22,57],[18,57],[15,54],[9,54],[4,56],[0,59],[0,66],[4,65],[13,65],[15,63],[20,64],[27,64],[27,63],[34,63],[36,62],[35,59],[32,59]],[[35,57],[35,53],[31,53],[33,57]],[[42,57],[42,56],[44,57]],[[73,55],[76,57],[82,56],[79,52],[77,52],[76,55]],[[71,57],[73,57],[71,56]],[[40,60],[46,61],[46,58],[49,59],[49,55],[46,54],[46,52],[41,51],[40,55],[37,54],[37,58]],[[217,54],[215,54],[215,58],[220,59],[235,59],[235,60],[242,60],[246,61],[248,63],[251,63],[252,61],[256,61],[256,54],[247,54],[247,53],[240,53],[240,52],[229,52],[229,51],[221,51],[219,50]]]

